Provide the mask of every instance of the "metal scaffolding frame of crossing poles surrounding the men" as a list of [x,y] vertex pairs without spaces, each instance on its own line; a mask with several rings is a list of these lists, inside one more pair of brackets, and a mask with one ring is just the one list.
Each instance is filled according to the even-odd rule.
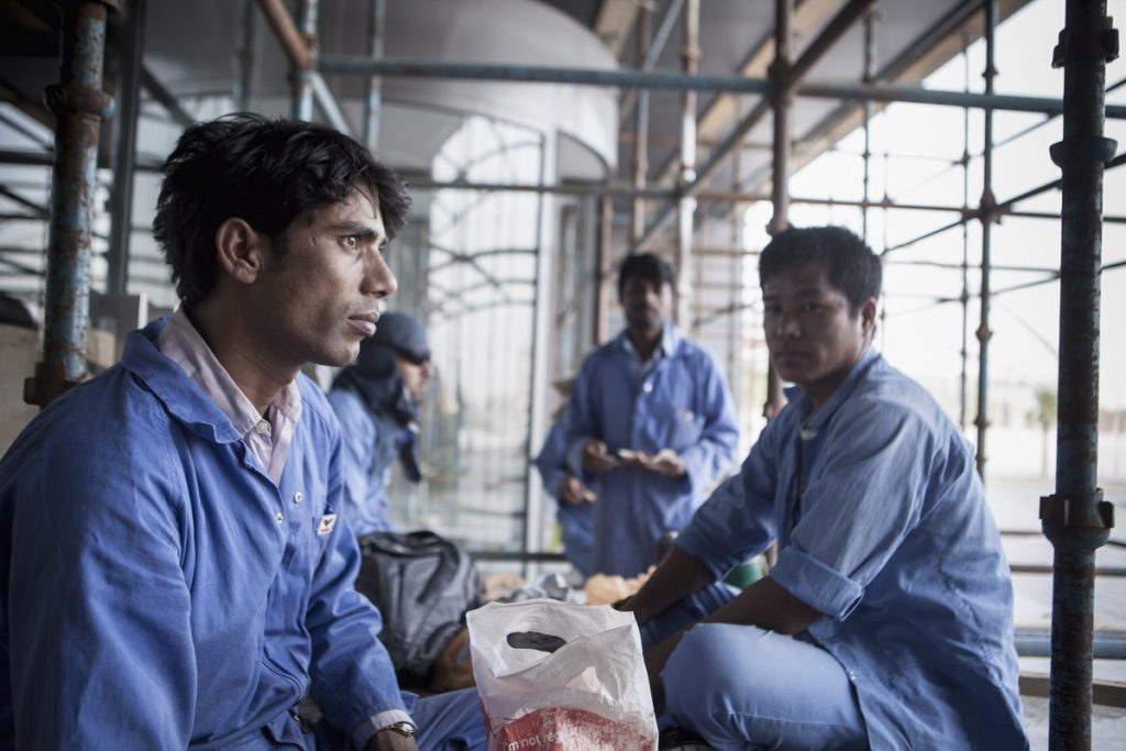
[[[235,101],[245,107],[250,96],[250,82],[254,65],[250,39],[253,33],[252,0],[247,2],[243,17],[243,46],[239,55],[240,75],[235,90]],[[610,278],[611,253],[609,250],[611,224],[614,221],[613,197],[633,199],[631,241],[634,250],[646,247],[673,218],[679,218],[677,259],[685,288],[688,288],[694,235],[692,216],[697,203],[740,204],[769,199],[774,205],[771,231],[778,232],[787,225],[787,213],[794,203],[822,203],[856,206],[864,211],[864,232],[867,234],[867,212],[869,208],[914,208],[922,211],[950,212],[957,218],[914,239],[886,248],[884,256],[908,248],[927,238],[954,227],[963,229],[963,262],[956,266],[963,272],[962,293],[957,297],[938,298],[936,303],[959,302],[968,314],[969,270],[981,275],[980,293],[981,320],[976,330],[980,346],[977,414],[977,468],[984,475],[986,464],[988,406],[989,406],[989,342],[990,301],[997,295],[1028,285],[1046,284],[1058,279],[1061,284],[1060,327],[1060,372],[1058,372],[1058,427],[1055,492],[1042,499],[1040,518],[1045,536],[1055,548],[1055,578],[1053,583],[1053,626],[1051,633],[1052,682],[1051,682],[1051,742],[1052,748],[1089,748],[1091,713],[1091,654],[1092,642],[1100,642],[1093,635],[1093,576],[1094,551],[1106,544],[1114,525],[1112,507],[1102,499],[1097,482],[1098,439],[1098,314],[1099,286],[1102,271],[1121,268],[1123,265],[1102,267],[1101,223],[1124,222],[1121,216],[1101,216],[1101,186],[1105,169],[1120,164],[1123,158],[1114,158],[1116,144],[1102,136],[1105,117],[1126,118],[1126,106],[1105,102],[1105,66],[1117,56],[1117,36],[1106,16],[1105,0],[1066,0],[1066,25],[1061,33],[1061,44],[1056,48],[1055,64],[1065,72],[1062,99],[998,95],[993,90],[995,70],[993,64],[994,35],[998,25],[997,0],[985,0],[978,9],[984,14],[984,38],[986,65],[984,71],[985,91],[968,91],[968,80],[964,91],[941,91],[900,84],[875,82],[874,37],[877,17],[872,0],[846,2],[821,34],[796,60],[790,57],[790,21],[794,14],[792,0],[776,0],[775,62],[768,78],[740,75],[700,75],[698,73],[698,0],[680,2],[674,0],[662,17],[656,34],[652,34],[652,12],[645,8],[636,19],[637,69],[636,70],[591,70],[548,66],[525,66],[503,64],[480,64],[458,62],[404,62],[382,57],[385,29],[385,0],[369,0],[370,24],[368,34],[369,56],[322,54],[316,43],[318,0],[301,0],[298,19],[291,15],[284,0],[254,0],[268,20],[291,64],[292,114],[311,119],[314,104],[334,126],[349,132],[341,108],[336,101],[325,80],[327,74],[361,75],[366,81],[361,138],[374,145],[378,138],[378,115],[382,105],[379,80],[387,77],[446,78],[462,80],[518,81],[544,83],[571,83],[599,87],[619,87],[627,90],[622,104],[623,115],[636,108],[634,142],[634,173],[632,185],[569,184],[557,186],[481,185],[471,182],[441,184],[428,180],[426,176],[412,179],[422,188],[456,187],[471,190],[534,190],[538,193],[575,194],[600,196],[600,233],[597,243],[598,259],[595,263],[600,290],[599,303],[593,316],[596,339],[607,334],[607,296]],[[957,18],[948,17],[937,25],[933,33],[946,34],[960,23],[969,3],[959,8]],[[111,109],[111,99],[101,90],[101,56],[104,51],[106,14],[119,11],[119,0],[70,0],[64,3],[63,54],[60,84],[47,91],[47,101],[57,117],[53,153],[42,154],[6,151],[0,152],[0,162],[9,164],[43,164],[53,167],[53,190],[50,212],[50,243],[47,250],[47,305],[45,306],[45,340],[43,361],[36,365],[35,376],[28,379],[27,400],[45,405],[66,387],[83,377],[86,373],[86,328],[88,324],[89,263],[91,257],[91,204],[95,188],[93,169],[98,132],[101,119]],[[135,120],[137,115],[136,91],[144,88],[169,115],[180,124],[193,120],[176,97],[143,65],[143,2],[128,3],[132,23],[127,25],[123,60],[126,65],[122,77],[122,124],[115,137],[115,180],[109,243],[109,278],[111,292],[124,293],[128,286],[128,235],[132,209],[132,173],[151,166],[137,163],[135,158]],[[672,21],[682,15],[686,24],[683,42],[683,73],[656,72],[655,59],[671,34]],[[696,19],[696,20],[694,20]],[[813,64],[832,47],[857,21],[865,23],[865,70],[857,84],[819,83],[804,80]],[[941,26],[941,28],[940,28]],[[131,46],[132,45],[132,46]],[[965,45],[963,45],[965,46]],[[894,66],[895,61],[890,65]],[[1117,84],[1116,84],[1117,86]],[[680,91],[681,101],[681,154],[680,173],[676,185],[651,187],[646,142],[649,138],[649,92],[654,90]],[[759,95],[761,100],[742,119],[734,124],[730,134],[711,149],[707,162],[696,169],[696,101],[698,92],[734,92]],[[635,92],[635,93],[634,93]],[[798,198],[788,194],[787,177],[792,172],[790,144],[793,128],[789,109],[794,98],[812,97],[859,102],[864,108],[864,198],[861,200],[831,200]],[[984,189],[976,207],[968,205],[968,195],[963,196],[960,206],[915,205],[906,202],[874,200],[869,195],[870,152],[869,124],[874,102],[915,102],[945,105],[984,110]],[[1064,137],[1052,149],[1052,157],[1060,166],[1062,177],[1019,196],[998,203],[992,193],[993,113],[998,110],[1040,113],[1047,116],[1062,115]],[[716,189],[707,186],[720,166],[736,155],[744,145],[747,134],[767,114],[774,116],[772,175],[769,196],[754,191],[742,191],[739,184],[732,189]],[[968,141],[968,120],[966,124]],[[969,161],[968,147],[960,163],[963,169]],[[968,190],[968,182],[964,184]],[[991,227],[1002,215],[1045,217],[1054,215],[1043,212],[1017,211],[1017,204],[1044,193],[1060,188],[1063,193],[1063,211],[1060,220],[1063,226],[1061,268],[1042,269],[1049,276],[1044,279],[1006,289],[993,289],[991,271],[1013,269],[992,263]],[[5,221],[36,220],[43,207],[27,202],[14,190],[0,186],[9,199],[27,206],[33,215],[5,215]],[[1096,199],[1092,200],[1092,197]],[[655,217],[645,223],[646,203],[659,202],[661,208]],[[982,227],[982,260],[980,265],[968,262],[968,222],[978,221]],[[738,252],[738,251],[735,251]],[[704,256],[699,249],[697,256]],[[457,259],[454,259],[457,260]],[[34,269],[18,261],[5,258],[3,262],[24,272]],[[885,262],[894,262],[886,260]],[[1034,271],[1037,269],[1020,269]],[[503,284],[506,280],[491,280]],[[519,280],[521,284],[527,280]],[[490,284],[486,280],[484,284]],[[730,314],[740,310],[713,311],[712,314]],[[685,316],[687,321],[687,316]],[[968,327],[963,325],[964,331]],[[968,358],[963,339],[962,359],[962,423],[965,424],[967,375],[965,363]],[[770,392],[767,412],[777,409],[775,391]],[[527,552],[526,552],[527,554]],[[1036,649],[1043,651],[1043,637],[1037,636]],[[1119,647],[1115,647],[1119,649]]]

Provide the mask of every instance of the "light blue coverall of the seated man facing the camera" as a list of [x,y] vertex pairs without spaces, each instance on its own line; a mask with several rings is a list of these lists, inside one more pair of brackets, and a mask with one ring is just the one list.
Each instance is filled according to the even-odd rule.
[[872,348],[816,411],[786,395],[677,545],[718,579],[777,537],[771,579],[824,617],[793,638],[697,625],[662,673],[672,718],[722,750],[1027,749],[1009,565],[973,448]]

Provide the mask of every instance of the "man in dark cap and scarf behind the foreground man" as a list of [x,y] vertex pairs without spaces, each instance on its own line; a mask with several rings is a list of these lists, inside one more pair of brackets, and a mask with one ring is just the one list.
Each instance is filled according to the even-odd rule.
[[384,313],[356,364],[332,384],[329,404],[345,436],[340,512],[357,537],[392,530],[387,491],[396,458],[408,481],[422,479],[418,413],[430,375],[426,329],[405,313]]

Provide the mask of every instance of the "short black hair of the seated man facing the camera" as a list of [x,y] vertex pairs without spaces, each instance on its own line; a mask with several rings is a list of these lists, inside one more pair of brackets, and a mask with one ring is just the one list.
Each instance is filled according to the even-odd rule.
[[779,233],[759,257],[759,284],[787,269],[823,266],[829,283],[844,293],[855,313],[883,285],[879,257],[855,233],[839,226],[790,227]]

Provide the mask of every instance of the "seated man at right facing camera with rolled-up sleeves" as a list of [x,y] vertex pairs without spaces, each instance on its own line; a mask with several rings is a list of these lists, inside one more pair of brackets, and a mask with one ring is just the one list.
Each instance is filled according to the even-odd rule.
[[[971,446],[872,348],[879,259],[789,230],[759,279],[789,403],[622,606],[665,722],[718,749],[1028,748],[1009,566]],[[768,576],[714,584],[776,538]]]

